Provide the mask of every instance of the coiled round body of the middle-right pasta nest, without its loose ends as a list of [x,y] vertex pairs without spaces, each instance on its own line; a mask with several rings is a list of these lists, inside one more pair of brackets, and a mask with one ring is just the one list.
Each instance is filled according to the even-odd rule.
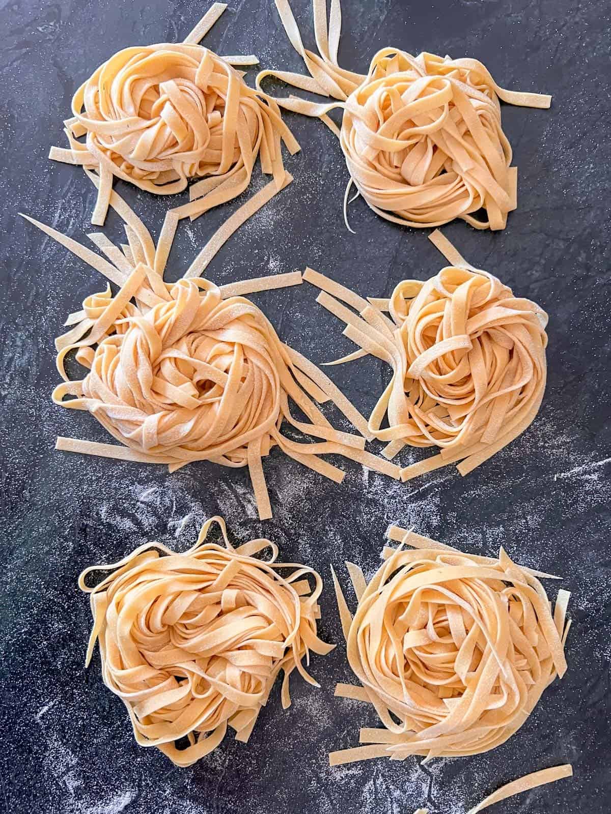
[[427,282],[400,282],[389,311],[400,355],[397,386],[380,404],[393,429],[376,426],[379,437],[453,453],[530,424],[547,370],[537,304],[486,271],[447,266]]

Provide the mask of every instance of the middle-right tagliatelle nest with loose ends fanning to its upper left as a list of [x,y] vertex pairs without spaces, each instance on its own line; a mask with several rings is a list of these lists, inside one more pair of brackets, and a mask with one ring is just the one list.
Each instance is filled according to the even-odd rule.
[[334,364],[371,353],[393,369],[368,422],[388,442],[385,456],[405,445],[441,448],[406,466],[403,480],[455,462],[461,475],[480,466],[529,427],[547,377],[543,309],[469,265],[440,232],[430,239],[452,265],[426,282],[400,282],[389,300],[363,300],[312,269],[304,274],[360,348]]

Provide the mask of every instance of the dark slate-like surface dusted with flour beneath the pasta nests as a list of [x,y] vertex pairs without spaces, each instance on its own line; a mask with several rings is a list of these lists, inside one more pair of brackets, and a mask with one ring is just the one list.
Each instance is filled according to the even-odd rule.
[[[305,41],[311,12],[295,0]],[[207,43],[257,53],[263,65],[301,70],[271,0],[231,0]],[[412,6],[408,10],[408,6]],[[505,781],[571,762],[574,779],[501,803],[498,812],[603,814],[609,778],[609,6],[573,0],[420,2],[345,0],[341,64],[364,70],[381,46],[481,59],[499,84],[553,94],[550,111],[503,107],[520,168],[519,208],[501,234],[455,223],[446,234],[473,263],[550,313],[543,409],[520,440],[461,479],[454,470],[396,484],[345,464],[344,484],[323,483],[279,454],[266,461],[275,518],[259,523],[244,470],[163,469],[53,452],[56,435],[106,440],[87,414],[51,404],[58,381],[53,338],[100,279],[17,217],[21,210],[86,242],[94,191],[76,168],[46,161],[62,144],[73,90],[103,59],[134,43],[181,39],[206,5],[130,0],[2,2],[2,795],[11,814],[433,814],[463,812]],[[605,13],[605,7],[607,12]],[[287,116],[303,151],[287,158],[295,182],[245,225],[209,267],[217,282],[304,268],[363,295],[388,295],[426,278],[442,258],[425,232],[376,217],[361,201],[341,218],[347,178],[335,139],[318,122]],[[261,184],[259,177],[255,188]],[[117,187],[152,230],[176,200]],[[178,278],[235,202],[182,224],[169,264]],[[109,217],[116,239],[121,225]],[[340,326],[304,285],[257,296],[279,334],[315,361],[346,352]],[[388,370],[376,361],[334,369],[363,410]],[[330,417],[345,427],[333,411]],[[417,453],[412,457],[415,459]],[[410,460],[407,454],[403,461]],[[331,769],[327,751],[355,745],[373,711],[333,698],[349,681],[340,644],[312,670],[322,689],[278,689],[248,747],[231,738],[193,768],[135,745],[121,702],[104,687],[96,655],[83,667],[90,626],[77,575],[150,539],[186,549],[199,523],[225,514],[239,539],[263,534],[284,558],[327,580],[321,632],[341,642],[329,564],[345,558],[371,575],[387,523],[470,551],[499,544],[525,564],[565,576],[574,591],[569,672],[523,729],[489,755],[420,767],[376,760]],[[187,521],[182,523],[182,519]],[[341,579],[346,582],[343,567]],[[555,586],[552,586],[555,590]]]

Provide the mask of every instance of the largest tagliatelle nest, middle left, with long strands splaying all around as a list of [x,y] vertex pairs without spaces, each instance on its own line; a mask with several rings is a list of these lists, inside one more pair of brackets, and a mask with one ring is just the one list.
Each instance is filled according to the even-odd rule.
[[[59,438],[56,449],[166,464],[176,470],[194,461],[248,466],[261,519],[271,517],[262,457],[279,446],[288,456],[341,483],[344,472],[320,454],[349,457],[395,479],[398,466],[364,450],[367,421],[315,365],[280,342],[274,327],[244,294],[301,283],[301,273],[279,274],[218,287],[200,276],[218,249],[204,247],[185,278],[166,283],[167,245],[153,243],[146,226],[112,192],[111,206],[124,217],[128,244],[116,247],[103,234],[90,238],[108,257],[28,218],[81,257],[110,287],[87,297],[55,340],[64,383],[57,405],[88,410],[120,442],[99,444]],[[68,352],[89,369],[71,381]],[[293,418],[289,399],[309,422]],[[333,429],[313,400],[332,400],[359,435]],[[286,419],[316,441],[283,434]]]

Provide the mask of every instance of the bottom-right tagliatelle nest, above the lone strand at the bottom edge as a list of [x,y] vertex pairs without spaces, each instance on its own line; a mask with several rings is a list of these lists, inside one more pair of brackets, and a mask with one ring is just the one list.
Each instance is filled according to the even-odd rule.
[[569,593],[558,592],[552,615],[538,580],[548,575],[517,566],[503,549],[498,558],[464,554],[396,526],[389,537],[415,550],[385,549],[369,584],[346,563],[354,617],[333,575],[360,681],[337,685],[336,695],[373,704],[383,725],[361,729],[366,746],[332,752],[330,763],[494,749],[565,673]]

